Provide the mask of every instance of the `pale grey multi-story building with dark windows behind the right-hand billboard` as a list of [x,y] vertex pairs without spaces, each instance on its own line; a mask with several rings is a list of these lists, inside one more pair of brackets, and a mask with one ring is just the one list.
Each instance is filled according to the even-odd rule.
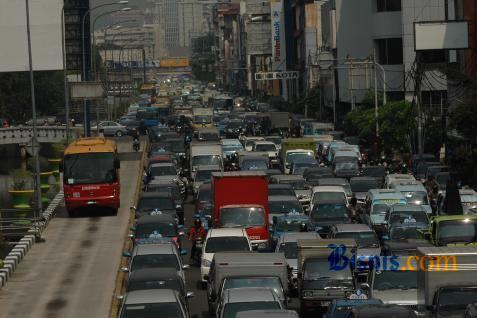
[[[322,40],[335,59],[333,76],[325,79],[326,100],[354,105],[373,88],[373,56],[384,68],[377,71],[379,90],[384,75],[388,99],[412,99],[417,66],[414,23],[443,21],[453,10],[453,1],[432,0],[329,0],[322,4]],[[366,62],[366,59],[368,62]],[[433,104],[447,94],[447,79],[435,66],[449,60],[443,50],[420,53],[423,69],[422,101]],[[333,72],[332,72],[333,73]]]

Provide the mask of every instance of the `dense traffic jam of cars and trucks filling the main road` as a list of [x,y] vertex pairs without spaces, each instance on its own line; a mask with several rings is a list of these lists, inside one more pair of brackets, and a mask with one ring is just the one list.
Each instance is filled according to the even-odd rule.
[[119,124],[145,152],[119,317],[475,317],[477,193],[438,157],[180,78]]

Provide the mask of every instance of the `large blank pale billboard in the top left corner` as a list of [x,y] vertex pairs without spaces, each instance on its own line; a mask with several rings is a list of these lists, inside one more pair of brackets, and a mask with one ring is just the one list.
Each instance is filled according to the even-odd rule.
[[[62,0],[29,0],[33,69],[63,69]],[[29,70],[26,1],[0,0],[0,72]]]

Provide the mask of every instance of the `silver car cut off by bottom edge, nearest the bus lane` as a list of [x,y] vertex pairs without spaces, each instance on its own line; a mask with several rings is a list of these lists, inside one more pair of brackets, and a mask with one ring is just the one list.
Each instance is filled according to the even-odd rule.
[[121,304],[119,318],[127,317],[189,318],[189,310],[175,290],[135,290],[126,293]]

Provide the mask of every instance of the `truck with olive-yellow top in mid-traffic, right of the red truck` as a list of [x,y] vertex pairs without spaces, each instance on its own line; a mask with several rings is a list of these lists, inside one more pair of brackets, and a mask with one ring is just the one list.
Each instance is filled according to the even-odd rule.
[[293,160],[314,159],[316,146],[313,138],[287,138],[282,140],[280,160],[285,174],[290,173]]

